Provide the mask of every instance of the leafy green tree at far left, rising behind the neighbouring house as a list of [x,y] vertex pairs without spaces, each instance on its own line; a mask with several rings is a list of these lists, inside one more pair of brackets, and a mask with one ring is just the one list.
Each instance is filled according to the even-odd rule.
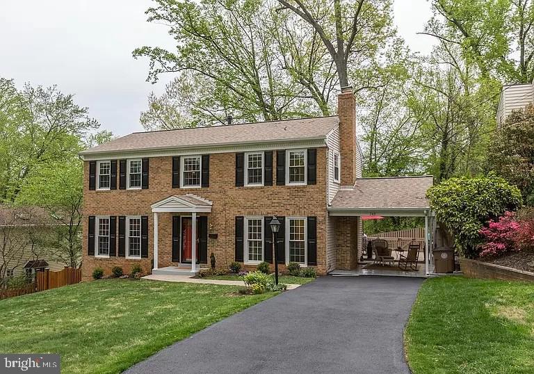
[[0,79],[0,201],[14,202],[27,177],[78,152],[79,138],[99,124],[88,108],[55,86],[16,90]]

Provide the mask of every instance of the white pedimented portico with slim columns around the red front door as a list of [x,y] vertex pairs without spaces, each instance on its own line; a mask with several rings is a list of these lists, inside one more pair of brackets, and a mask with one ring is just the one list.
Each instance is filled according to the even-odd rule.
[[[154,270],[158,270],[158,213],[177,213],[188,218],[188,225],[183,227],[184,239],[180,241],[183,248],[186,243],[188,262],[191,261],[191,273],[197,272],[197,213],[211,213],[212,202],[193,194],[171,195],[155,202],[150,207],[154,213]],[[184,217],[185,218],[185,217]],[[185,261],[180,258],[180,263]],[[163,270],[163,269],[162,269]]]

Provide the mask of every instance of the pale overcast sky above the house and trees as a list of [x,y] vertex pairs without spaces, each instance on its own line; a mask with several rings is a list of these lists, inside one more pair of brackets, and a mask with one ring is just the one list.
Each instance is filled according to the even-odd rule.
[[[115,135],[142,131],[147,95],[163,92],[172,76],[145,81],[147,60],[131,51],[143,45],[172,49],[163,25],[146,22],[149,0],[0,0],[0,76],[17,86],[56,84],[88,106]],[[427,0],[396,0],[398,31],[412,50],[428,54],[432,40],[416,35],[430,17]]]

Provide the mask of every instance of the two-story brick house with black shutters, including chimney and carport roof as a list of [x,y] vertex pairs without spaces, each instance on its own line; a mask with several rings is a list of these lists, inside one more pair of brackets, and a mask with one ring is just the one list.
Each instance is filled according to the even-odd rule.
[[[81,152],[83,277],[195,272],[289,261],[324,274],[357,266],[359,216],[431,216],[432,177],[362,179],[352,88],[338,115],[131,133]],[[426,257],[428,259],[428,257]]]

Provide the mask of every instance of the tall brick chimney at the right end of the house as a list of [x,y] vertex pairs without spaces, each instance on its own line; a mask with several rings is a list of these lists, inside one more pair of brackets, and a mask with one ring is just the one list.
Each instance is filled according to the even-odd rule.
[[341,87],[337,97],[341,186],[353,186],[356,180],[356,101],[353,87]]

